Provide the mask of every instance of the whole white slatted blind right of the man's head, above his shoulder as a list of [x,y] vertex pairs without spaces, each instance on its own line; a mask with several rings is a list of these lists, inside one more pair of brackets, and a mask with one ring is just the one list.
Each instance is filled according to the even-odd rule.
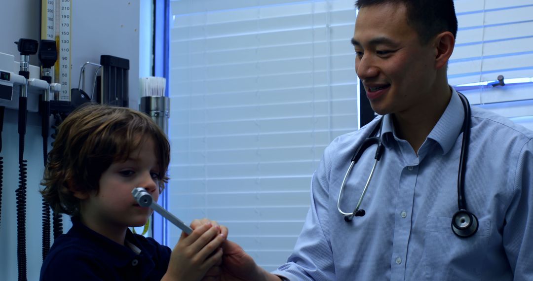
[[[533,129],[533,2],[456,0],[455,7],[459,31],[448,68],[450,84],[484,82],[462,90],[472,104]],[[529,82],[486,85],[498,75]]]

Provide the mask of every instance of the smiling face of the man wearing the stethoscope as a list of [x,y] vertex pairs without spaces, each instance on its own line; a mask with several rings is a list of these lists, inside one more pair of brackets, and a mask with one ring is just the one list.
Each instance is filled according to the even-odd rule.
[[435,82],[435,49],[422,45],[403,4],[362,7],[352,43],[356,72],[372,109],[402,113],[427,102]]

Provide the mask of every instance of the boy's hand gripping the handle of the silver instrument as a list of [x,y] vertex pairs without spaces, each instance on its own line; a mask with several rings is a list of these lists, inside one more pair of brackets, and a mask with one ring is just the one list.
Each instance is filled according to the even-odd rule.
[[[192,224],[191,224],[192,225]],[[162,280],[200,280],[213,266],[220,265],[222,249],[220,245],[227,236],[227,229],[211,224],[193,227],[187,236],[182,233],[172,251],[168,269]]]

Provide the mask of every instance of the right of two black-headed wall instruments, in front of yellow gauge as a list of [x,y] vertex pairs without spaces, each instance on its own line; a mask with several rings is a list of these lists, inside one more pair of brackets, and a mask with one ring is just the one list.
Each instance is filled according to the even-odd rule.
[[[51,69],[58,60],[58,50],[54,40],[41,40],[38,55],[43,68],[41,80],[52,84]],[[50,86],[51,87],[51,86]],[[48,138],[50,134],[50,87],[44,91],[41,106],[41,135],[43,136],[43,161],[46,167],[48,154]],[[55,216],[54,216],[55,219]],[[56,224],[54,224],[55,226]],[[50,250],[50,204],[43,198],[43,260]]]

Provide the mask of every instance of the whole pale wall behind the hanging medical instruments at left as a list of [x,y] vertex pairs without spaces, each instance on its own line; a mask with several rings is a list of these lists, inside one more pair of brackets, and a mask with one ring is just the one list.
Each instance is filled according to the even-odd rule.
[[[149,0],[141,1],[141,3],[146,2],[150,3]],[[13,42],[22,37],[41,38],[39,3],[40,1],[37,0],[2,1],[0,19],[4,28],[0,33],[2,38],[0,52],[14,55],[15,60],[18,60],[17,45]],[[139,15],[143,12],[150,13],[150,11],[145,11],[146,9],[141,11],[140,6],[139,1],[73,1],[71,86],[77,86],[79,69],[86,61],[99,63],[102,54],[124,57],[130,60],[130,107],[138,108],[139,73],[146,75],[149,73],[146,68],[150,67],[148,65],[143,67],[142,71],[139,70]],[[146,40],[147,37],[143,38]],[[30,64],[38,65],[36,56],[30,58]],[[17,72],[15,69],[7,70]],[[90,76],[88,78],[92,79]],[[14,96],[17,97],[18,94]],[[17,219],[15,216],[19,147],[17,122],[17,111],[7,109],[2,131],[3,147],[0,153],[0,156],[4,157],[2,218],[0,220],[0,257],[2,257],[0,258],[0,280],[17,280],[18,276]],[[28,280],[38,280],[42,265],[41,195],[38,193],[39,181],[42,179],[44,170],[42,155],[41,118],[36,112],[29,112],[25,145],[25,159],[28,160],[26,221]],[[70,223],[67,220],[65,232],[68,227]]]

